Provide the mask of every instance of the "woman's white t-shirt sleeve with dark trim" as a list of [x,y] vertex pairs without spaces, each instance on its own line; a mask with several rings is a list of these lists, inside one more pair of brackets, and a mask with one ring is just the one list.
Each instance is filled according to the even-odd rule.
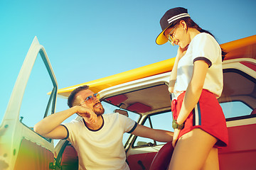
[[210,67],[217,60],[219,50],[220,45],[212,35],[201,33],[193,40],[193,62],[203,60]]

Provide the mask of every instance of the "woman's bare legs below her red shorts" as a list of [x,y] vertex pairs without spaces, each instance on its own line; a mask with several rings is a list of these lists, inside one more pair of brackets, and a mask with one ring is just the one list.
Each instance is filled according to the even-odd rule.
[[[210,164],[218,164],[215,162],[218,161],[218,152],[213,148],[216,142],[215,137],[200,128],[191,130],[178,140],[169,170],[199,170],[207,169]],[[214,167],[218,169],[218,166]]]

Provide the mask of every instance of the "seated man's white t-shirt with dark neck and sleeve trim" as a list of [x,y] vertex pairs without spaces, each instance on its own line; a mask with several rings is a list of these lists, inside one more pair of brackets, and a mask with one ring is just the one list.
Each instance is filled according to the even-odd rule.
[[102,115],[99,130],[87,128],[84,120],[65,123],[68,141],[78,152],[79,169],[129,169],[122,144],[124,132],[132,132],[137,123],[119,113]]

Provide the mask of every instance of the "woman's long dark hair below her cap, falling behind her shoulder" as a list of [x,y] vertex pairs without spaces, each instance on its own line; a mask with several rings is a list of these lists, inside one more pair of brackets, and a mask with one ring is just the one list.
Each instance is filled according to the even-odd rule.
[[[189,18],[189,17],[181,18],[181,19],[175,21],[172,26],[176,26],[176,24],[178,24],[179,21],[185,21],[185,22],[186,22],[186,25],[188,26],[188,28],[196,28],[196,30],[198,30],[200,33],[208,33],[208,34],[212,35],[213,38],[214,38],[214,35],[213,35],[212,33],[210,33],[208,30],[204,30],[204,29],[202,29],[201,27],[199,27],[199,26],[198,26],[191,18]],[[220,47],[220,48],[221,48],[221,47]],[[224,60],[226,54],[227,54],[227,52],[225,52],[225,51],[221,48],[222,60]]]

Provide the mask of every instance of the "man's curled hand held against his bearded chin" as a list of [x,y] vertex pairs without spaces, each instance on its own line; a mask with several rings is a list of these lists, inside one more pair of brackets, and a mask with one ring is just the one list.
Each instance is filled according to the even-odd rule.
[[85,122],[90,124],[97,123],[97,115],[92,111],[91,108],[87,108],[84,106],[78,106],[78,115],[84,118]]

